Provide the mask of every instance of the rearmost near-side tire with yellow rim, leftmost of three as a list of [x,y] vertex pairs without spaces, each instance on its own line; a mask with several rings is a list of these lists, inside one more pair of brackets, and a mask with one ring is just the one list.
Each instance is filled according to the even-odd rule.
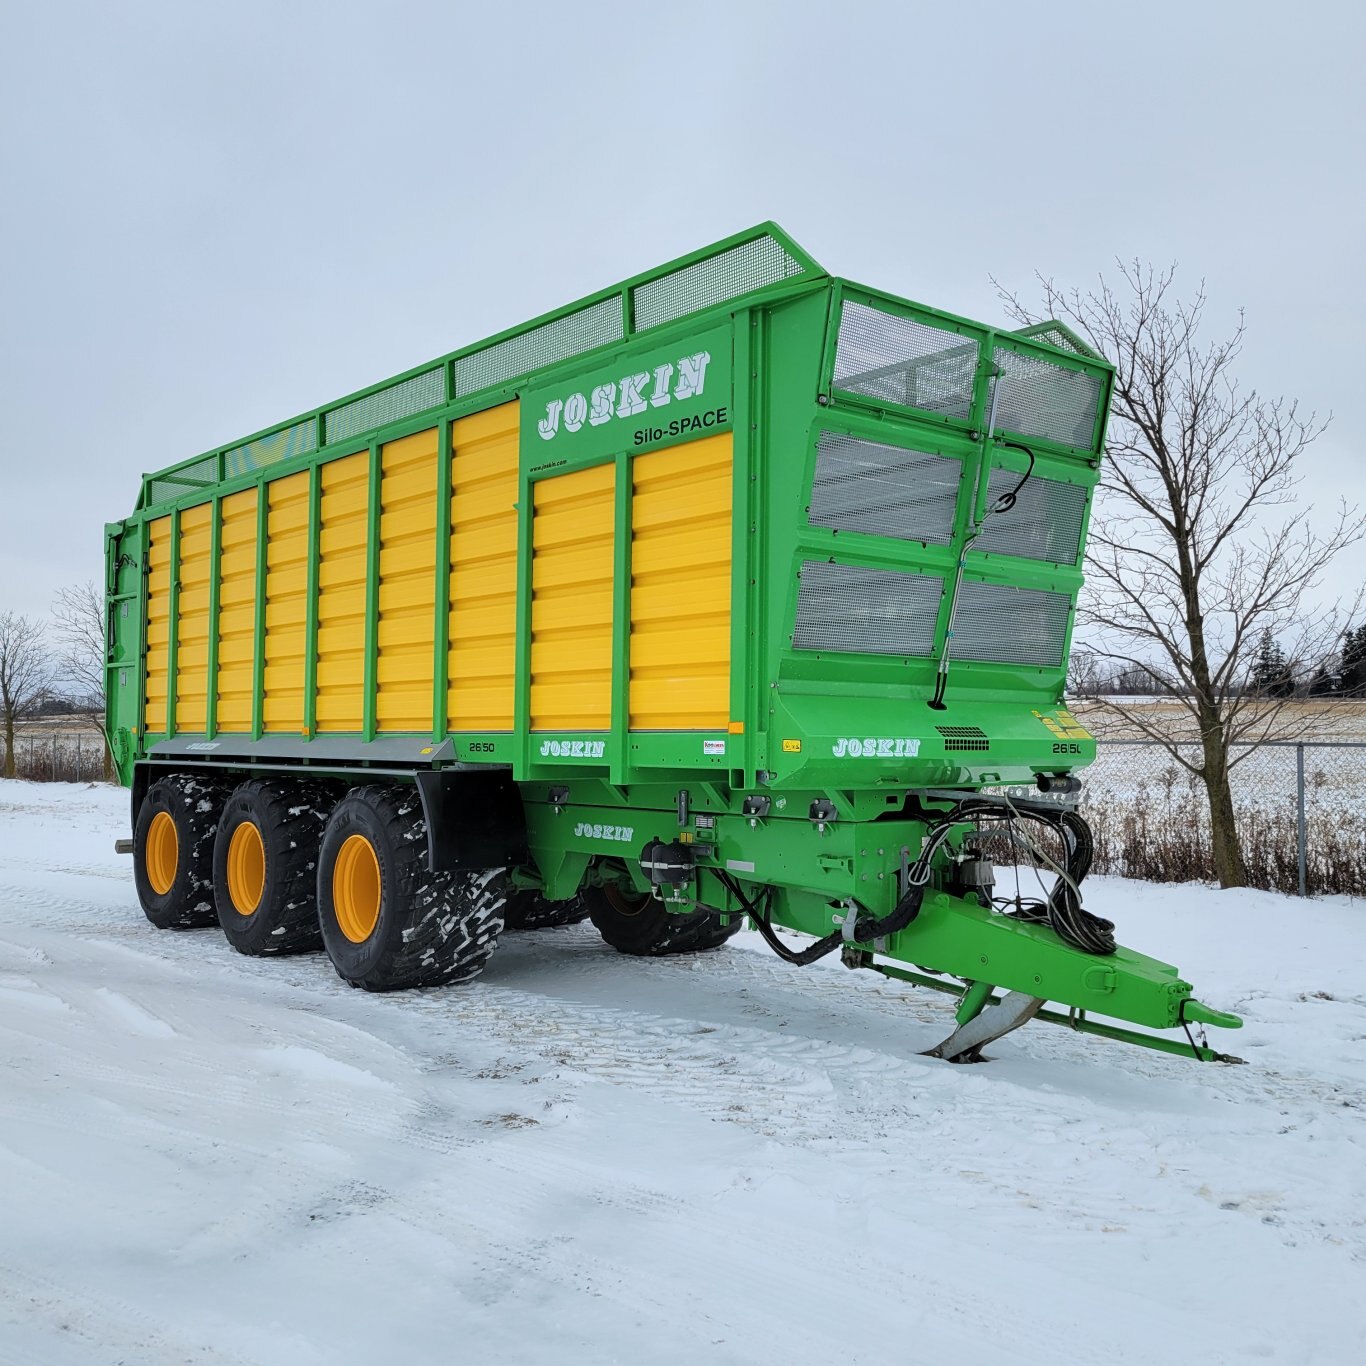
[[213,841],[227,784],[193,773],[157,779],[133,831],[133,881],[158,930],[216,925]]

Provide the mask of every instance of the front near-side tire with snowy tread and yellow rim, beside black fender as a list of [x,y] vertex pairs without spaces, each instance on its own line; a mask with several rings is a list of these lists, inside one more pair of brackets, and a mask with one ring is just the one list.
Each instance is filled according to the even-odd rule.
[[355,787],[328,818],[318,923],[337,975],[367,992],[477,977],[497,947],[504,869],[429,873],[417,788]]

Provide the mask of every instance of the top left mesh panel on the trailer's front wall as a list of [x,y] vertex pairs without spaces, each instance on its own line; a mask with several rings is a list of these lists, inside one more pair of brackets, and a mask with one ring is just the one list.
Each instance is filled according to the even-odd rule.
[[835,348],[835,387],[967,418],[978,351],[971,337],[847,301]]

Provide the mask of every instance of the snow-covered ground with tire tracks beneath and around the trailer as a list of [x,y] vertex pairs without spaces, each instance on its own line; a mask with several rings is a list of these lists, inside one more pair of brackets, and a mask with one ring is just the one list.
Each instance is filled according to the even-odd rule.
[[1198,1065],[742,934],[366,996],[138,910],[126,798],[0,783],[0,1362],[1356,1363],[1366,904],[1090,904]]

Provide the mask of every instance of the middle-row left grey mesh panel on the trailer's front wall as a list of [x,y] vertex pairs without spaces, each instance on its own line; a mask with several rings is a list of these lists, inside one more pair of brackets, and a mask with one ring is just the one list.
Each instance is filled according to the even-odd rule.
[[963,462],[822,432],[816,448],[811,526],[947,545]]

